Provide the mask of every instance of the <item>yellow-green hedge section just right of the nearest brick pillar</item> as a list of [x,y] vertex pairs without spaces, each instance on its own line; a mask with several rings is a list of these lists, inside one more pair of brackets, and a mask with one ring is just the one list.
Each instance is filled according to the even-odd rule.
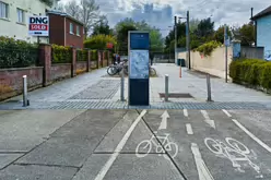
[[52,63],[71,63],[72,51],[70,47],[52,45],[51,55]]

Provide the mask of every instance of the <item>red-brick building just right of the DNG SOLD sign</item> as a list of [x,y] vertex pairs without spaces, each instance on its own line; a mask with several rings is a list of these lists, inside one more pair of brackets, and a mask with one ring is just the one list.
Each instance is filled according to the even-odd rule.
[[83,48],[83,23],[67,13],[48,11],[49,16],[49,43],[61,46]]

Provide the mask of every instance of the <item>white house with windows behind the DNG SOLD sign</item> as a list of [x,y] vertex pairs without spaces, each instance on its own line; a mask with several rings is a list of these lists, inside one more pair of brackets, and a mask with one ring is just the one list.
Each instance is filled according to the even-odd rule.
[[[0,0],[0,36],[14,37],[26,41],[37,41],[37,37],[28,35],[28,17],[46,15],[47,10],[55,9],[59,0]],[[40,38],[47,43],[48,38]]]

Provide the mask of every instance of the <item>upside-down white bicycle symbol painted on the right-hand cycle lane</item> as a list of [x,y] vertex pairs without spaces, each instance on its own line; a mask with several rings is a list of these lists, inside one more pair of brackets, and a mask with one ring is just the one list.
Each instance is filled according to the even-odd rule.
[[249,159],[248,155],[250,154],[250,151],[247,146],[232,137],[226,137],[225,140],[229,146],[220,140],[215,141],[210,137],[207,137],[204,143],[214,154],[228,158],[232,161],[233,167],[237,168],[237,170],[244,172],[244,170],[241,170],[241,165],[239,165],[238,161],[247,161],[258,173],[260,173],[260,167]]

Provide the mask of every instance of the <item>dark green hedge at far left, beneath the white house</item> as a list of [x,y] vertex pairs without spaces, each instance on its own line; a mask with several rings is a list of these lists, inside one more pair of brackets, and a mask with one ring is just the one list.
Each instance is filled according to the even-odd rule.
[[0,36],[0,68],[36,65],[38,47],[24,40]]

